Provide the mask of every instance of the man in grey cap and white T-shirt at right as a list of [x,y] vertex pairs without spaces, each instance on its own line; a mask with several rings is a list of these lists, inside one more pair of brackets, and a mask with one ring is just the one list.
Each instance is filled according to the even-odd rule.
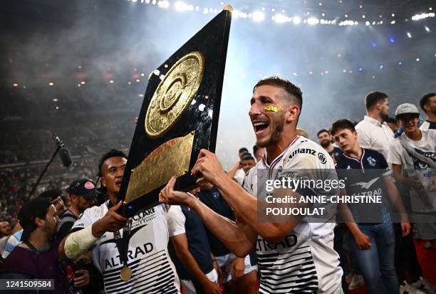
[[399,105],[395,117],[404,133],[390,145],[388,162],[396,181],[410,187],[418,237],[436,251],[436,130],[420,130],[420,112],[410,103]]

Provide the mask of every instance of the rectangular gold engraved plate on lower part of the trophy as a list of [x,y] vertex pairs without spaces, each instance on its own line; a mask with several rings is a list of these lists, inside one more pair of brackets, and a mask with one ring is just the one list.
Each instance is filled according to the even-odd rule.
[[[130,175],[125,202],[161,187],[172,176],[180,177],[190,167],[195,132],[167,141],[151,152]],[[147,179],[147,181],[144,181]]]

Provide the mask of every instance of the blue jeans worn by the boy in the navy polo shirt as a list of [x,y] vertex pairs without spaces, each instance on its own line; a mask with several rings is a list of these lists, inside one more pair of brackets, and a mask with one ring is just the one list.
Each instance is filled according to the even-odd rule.
[[398,294],[400,286],[395,272],[395,235],[392,223],[359,225],[359,229],[370,238],[372,246],[360,250],[350,232],[347,234],[348,243],[368,292]]

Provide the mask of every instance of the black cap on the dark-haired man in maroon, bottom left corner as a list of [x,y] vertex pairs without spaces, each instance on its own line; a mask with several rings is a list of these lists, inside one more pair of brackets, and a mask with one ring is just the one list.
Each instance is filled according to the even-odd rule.
[[50,206],[51,201],[46,197],[31,199],[23,205],[19,211],[19,222],[20,226],[23,228],[21,241],[26,241],[31,232],[36,229],[36,217],[40,217],[41,219],[46,218],[46,214]]

